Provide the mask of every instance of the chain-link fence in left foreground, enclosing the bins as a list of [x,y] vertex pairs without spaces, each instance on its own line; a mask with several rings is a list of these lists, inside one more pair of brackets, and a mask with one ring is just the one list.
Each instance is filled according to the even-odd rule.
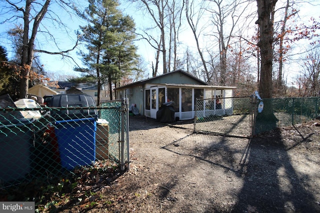
[[104,161],[128,168],[127,106],[121,99],[101,107],[0,108],[0,186],[58,178]]

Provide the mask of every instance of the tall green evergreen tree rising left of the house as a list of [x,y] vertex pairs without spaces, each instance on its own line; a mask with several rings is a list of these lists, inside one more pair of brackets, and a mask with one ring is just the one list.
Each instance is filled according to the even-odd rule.
[[138,56],[133,45],[134,22],[130,16],[117,9],[117,0],[89,0],[89,6],[80,16],[88,24],[80,26],[82,41],[87,52],[80,52],[84,64],[94,70],[97,77],[98,104],[101,83],[107,80],[112,100],[112,83],[116,85],[122,77],[135,67]]

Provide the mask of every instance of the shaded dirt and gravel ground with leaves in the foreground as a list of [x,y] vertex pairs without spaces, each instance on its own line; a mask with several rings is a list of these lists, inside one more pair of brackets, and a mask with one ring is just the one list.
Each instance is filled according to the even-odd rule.
[[193,134],[192,123],[167,125],[133,116],[128,172],[93,170],[73,180],[75,185],[69,181],[71,193],[42,194],[39,198],[50,202],[36,208],[64,213],[320,212],[319,123],[249,140]]

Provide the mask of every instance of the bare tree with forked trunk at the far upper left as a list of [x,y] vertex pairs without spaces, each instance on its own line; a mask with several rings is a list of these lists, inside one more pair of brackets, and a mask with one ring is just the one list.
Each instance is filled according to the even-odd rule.
[[[7,19],[1,21],[4,22],[13,22],[21,23],[23,25],[23,35],[22,35],[22,50],[21,50],[21,60],[20,60],[20,89],[19,97],[24,98],[28,91],[28,80],[29,74],[34,59],[34,52],[43,52],[48,54],[65,54],[75,47],[68,50],[61,50],[58,52],[50,52],[41,49],[35,49],[35,40],[38,32],[47,34],[48,36],[53,37],[50,33],[50,30],[45,26],[41,26],[41,21],[46,17],[51,21],[65,26],[63,21],[55,13],[55,11],[50,10],[49,6],[55,2],[56,5],[60,6],[66,11],[72,9],[73,4],[69,1],[62,0],[44,0],[42,2],[34,0],[25,0],[25,4],[21,4],[19,0],[5,0],[6,4],[1,9],[0,15],[5,15]],[[8,16],[9,14],[9,16]],[[75,45],[77,42],[75,43]]]

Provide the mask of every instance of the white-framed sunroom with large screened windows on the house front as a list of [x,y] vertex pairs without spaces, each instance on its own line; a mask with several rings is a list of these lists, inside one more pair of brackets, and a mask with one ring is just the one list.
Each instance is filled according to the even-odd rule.
[[[156,119],[156,112],[165,102],[172,101],[175,120],[198,116],[232,113],[233,88],[188,84],[146,84],[144,88],[144,115]],[[197,100],[198,99],[198,100]],[[227,100],[227,101],[225,101]],[[198,107],[197,107],[198,106]]]

